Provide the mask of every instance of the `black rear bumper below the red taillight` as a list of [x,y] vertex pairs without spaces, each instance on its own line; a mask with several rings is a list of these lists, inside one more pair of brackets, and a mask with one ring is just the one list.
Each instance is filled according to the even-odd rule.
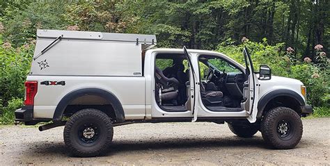
[[49,122],[52,119],[33,119],[33,106],[23,106],[15,110],[15,122],[24,122],[26,125],[36,125],[39,122]]

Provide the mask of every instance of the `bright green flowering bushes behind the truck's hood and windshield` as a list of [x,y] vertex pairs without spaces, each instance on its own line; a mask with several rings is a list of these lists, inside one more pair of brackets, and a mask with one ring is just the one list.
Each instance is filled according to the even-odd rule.
[[[307,88],[308,103],[322,110],[330,112],[330,77],[329,63],[314,64],[299,62],[291,57],[290,53],[281,51],[283,43],[271,46],[267,40],[263,42],[251,42],[246,40],[244,44],[234,45],[232,40],[226,40],[219,44],[217,51],[226,53],[227,56],[244,65],[243,47],[247,47],[253,61],[254,68],[259,65],[269,65],[272,74],[300,80]],[[322,66],[322,67],[321,67]],[[324,114],[322,114],[324,115]]]

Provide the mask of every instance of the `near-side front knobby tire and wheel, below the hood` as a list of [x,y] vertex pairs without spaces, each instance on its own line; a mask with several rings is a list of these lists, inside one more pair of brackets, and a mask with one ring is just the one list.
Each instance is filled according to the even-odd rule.
[[303,133],[300,116],[294,110],[277,107],[269,110],[261,122],[262,138],[274,149],[292,149]]

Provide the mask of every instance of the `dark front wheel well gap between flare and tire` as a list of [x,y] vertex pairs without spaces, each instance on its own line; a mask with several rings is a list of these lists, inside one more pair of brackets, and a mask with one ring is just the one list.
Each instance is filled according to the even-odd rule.
[[298,113],[298,115],[301,115],[301,107],[299,101],[297,101],[297,99],[294,99],[293,97],[288,96],[278,96],[274,97],[274,99],[271,99],[265,106],[264,110],[262,110],[262,115],[265,115],[267,111],[278,106],[291,108],[296,113]]

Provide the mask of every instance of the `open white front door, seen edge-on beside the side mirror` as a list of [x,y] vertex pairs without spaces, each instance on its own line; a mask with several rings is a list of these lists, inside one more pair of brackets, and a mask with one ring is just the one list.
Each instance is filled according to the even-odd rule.
[[246,47],[244,47],[243,53],[244,53],[244,60],[246,65],[246,74],[249,74],[248,76],[249,92],[244,105],[245,105],[246,113],[249,114],[248,120],[249,122],[253,123],[256,122],[256,115],[258,113],[257,101],[259,94],[259,88],[258,88],[259,84],[258,84],[258,77],[254,73],[251,56],[249,55],[249,51],[246,49]]

